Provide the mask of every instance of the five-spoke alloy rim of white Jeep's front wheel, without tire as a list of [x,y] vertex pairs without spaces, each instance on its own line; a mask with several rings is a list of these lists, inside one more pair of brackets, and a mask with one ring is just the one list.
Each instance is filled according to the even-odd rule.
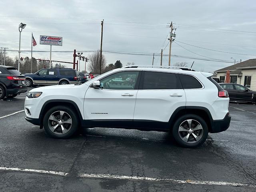
[[72,118],[67,112],[56,111],[48,118],[48,126],[54,134],[66,134],[72,127]]

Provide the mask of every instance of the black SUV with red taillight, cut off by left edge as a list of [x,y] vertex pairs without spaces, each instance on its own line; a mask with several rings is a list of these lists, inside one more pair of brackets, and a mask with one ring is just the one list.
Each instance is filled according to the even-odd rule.
[[0,99],[27,92],[26,78],[16,67],[0,65]]

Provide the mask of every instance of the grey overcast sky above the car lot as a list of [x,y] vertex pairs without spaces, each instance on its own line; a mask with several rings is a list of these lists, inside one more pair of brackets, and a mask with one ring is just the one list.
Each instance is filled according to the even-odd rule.
[[[0,47],[10,50],[18,50],[20,22],[27,24],[22,31],[21,50],[31,50],[31,32],[37,42],[35,51],[50,50],[50,46],[39,44],[40,35],[63,37],[63,46],[52,46],[52,51],[99,50],[100,21],[104,19],[103,50],[155,53],[154,65],[160,65],[160,50],[166,47],[166,36],[170,32],[166,26],[172,21],[176,28],[172,54],[192,57],[172,57],[172,65],[188,62],[190,66],[194,61],[194,69],[208,72],[231,63],[195,58],[228,61],[233,61],[231,57],[242,61],[256,58],[254,0],[9,0],[0,1],[0,7]],[[164,50],[164,54],[168,53],[169,46]],[[8,52],[8,55],[15,57],[18,52]],[[121,60],[123,65],[127,62],[151,65],[153,58],[151,55],[104,55],[107,64]],[[30,52],[22,52],[21,56],[30,57]],[[33,52],[33,57],[49,58],[50,53]],[[73,56],[71,52],[53,52],[52,60],[72,62]],[[168,56],[163,57],[163,65],[168,65]]]

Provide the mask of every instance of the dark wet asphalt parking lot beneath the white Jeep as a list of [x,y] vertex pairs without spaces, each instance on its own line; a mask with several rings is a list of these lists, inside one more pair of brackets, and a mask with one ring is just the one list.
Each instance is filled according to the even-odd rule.
[[25,96],[0,101],[0,191],[256,191],[253,104],[230,103],[230,128],[187,149],[152,131],[53,139],[24,119]]

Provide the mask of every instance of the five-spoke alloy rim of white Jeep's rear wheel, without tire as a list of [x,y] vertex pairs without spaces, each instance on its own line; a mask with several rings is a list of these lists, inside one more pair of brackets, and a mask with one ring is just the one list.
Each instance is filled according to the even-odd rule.
[[188,119],[180,124],[178,132],[184,142],[196,143],[202,138],[204,130],[197,120]]

